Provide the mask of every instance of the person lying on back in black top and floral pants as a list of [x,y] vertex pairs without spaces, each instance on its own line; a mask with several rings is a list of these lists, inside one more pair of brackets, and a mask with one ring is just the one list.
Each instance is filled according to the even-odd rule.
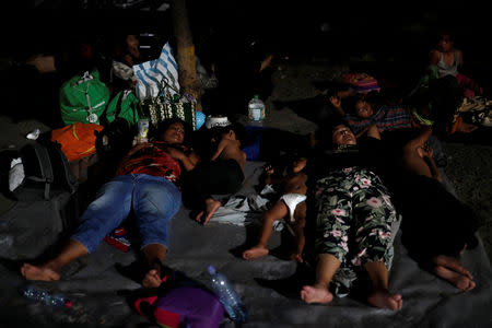
[[309,159],[308,200],[314,203],[307,213],[316,220],[318,262],[316,281],[303,286],[301,298],[328,304],[333,294],[347,295],[365,269],[372,282],[368,304],[400,309],[401,295],[388,286],[391,227],[399,221],[389,190],[378,176],[379,132],[372,126],[367,138],[358,141],[343,120],[332,121],[330,128],[331,138],[316,144],[318,156]]

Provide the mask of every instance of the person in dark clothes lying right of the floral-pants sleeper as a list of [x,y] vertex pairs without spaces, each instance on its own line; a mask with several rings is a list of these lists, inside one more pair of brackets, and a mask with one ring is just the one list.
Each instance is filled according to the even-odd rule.
[[401,242],[423,269],[467,292],[476,283],[460,257],[478,245],[479,221],[470,207],[444,188],[429,145],[431,136],[431,128],[422,129],[395,151],[399,169],[391,189],[403,216]]

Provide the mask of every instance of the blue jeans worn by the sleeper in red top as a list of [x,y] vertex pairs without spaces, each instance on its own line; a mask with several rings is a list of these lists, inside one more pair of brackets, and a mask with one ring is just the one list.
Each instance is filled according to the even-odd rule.
[[97,191],[72,239],[93,253],[106,235],[121,225],[133,208],[141,248],[149,244],[162,244],[167,248],[168,223],[180,206],[179,189],[165,178],[145,174],[120,175]]

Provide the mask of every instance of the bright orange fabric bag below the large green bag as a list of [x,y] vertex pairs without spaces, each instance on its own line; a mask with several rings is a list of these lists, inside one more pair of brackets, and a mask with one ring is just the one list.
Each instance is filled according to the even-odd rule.
[[69,162],[78,161],[96,152],[95,131],[102,131],[103,126],[96,124],[74,122],[51,131],[51,141],[61,144],[61,151]]

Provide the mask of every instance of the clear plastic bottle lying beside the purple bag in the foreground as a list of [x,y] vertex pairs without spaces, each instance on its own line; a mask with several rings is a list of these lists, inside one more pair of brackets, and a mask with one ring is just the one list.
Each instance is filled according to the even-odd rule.
[[219,300],[231,319],[233,319],[235,324],[246,323],[248,319],[248,312],[246,305],[241,301],[239,295],[234,290],[234,286],[227,278],[221,272],[218,272],[213,266],[209,266],[208,270],[211,277],[212,290],[219,296]]

